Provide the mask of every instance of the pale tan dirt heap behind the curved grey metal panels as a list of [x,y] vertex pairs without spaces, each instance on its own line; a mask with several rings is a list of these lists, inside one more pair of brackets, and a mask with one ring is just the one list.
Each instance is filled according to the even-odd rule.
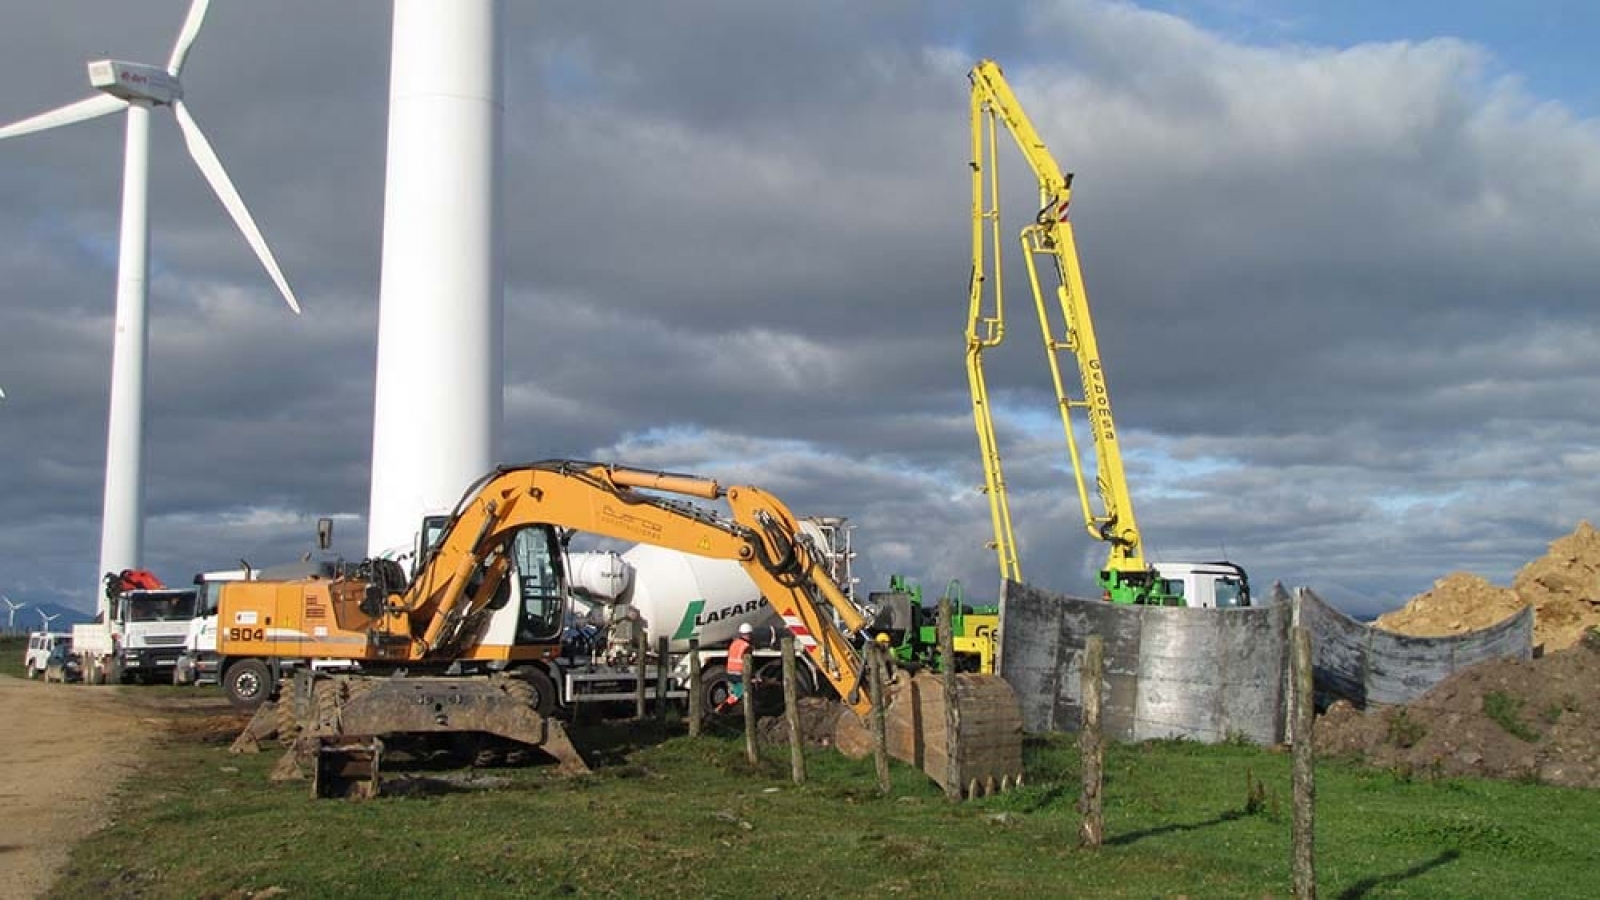
[[1600,532],[1589,522],[1550,543],[1549,552],[1523,565],[1510,588],[1456,572],[1403,609],[1378,617],[1378,628],[1418,637],[1442,637],[1488,628],[1533,605],[1533,642],[1546,650],[1578,644],[1600,626]]

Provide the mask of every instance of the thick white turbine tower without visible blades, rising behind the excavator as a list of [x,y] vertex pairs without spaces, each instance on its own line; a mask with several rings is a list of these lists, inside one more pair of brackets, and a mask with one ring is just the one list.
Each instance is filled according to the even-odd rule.
[[494,463],[502,0],[395,0],[368,552]]

